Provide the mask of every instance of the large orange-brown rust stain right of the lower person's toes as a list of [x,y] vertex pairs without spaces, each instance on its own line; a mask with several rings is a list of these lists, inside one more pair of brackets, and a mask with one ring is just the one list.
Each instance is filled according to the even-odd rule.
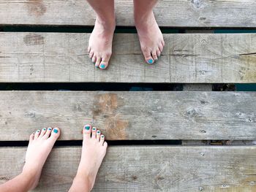
[[127,139],[128,120],[121,118],[116,110],[122,106],[121,98],[116,93],[99,94],[94,98],[93,118],[102,118],[106,139]]

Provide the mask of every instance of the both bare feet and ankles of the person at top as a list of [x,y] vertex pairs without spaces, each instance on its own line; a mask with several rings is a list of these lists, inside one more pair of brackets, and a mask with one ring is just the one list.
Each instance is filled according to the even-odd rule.
[[[97,14],[94,31],[89,39],[89,57],[99,69],[107,69],[112,54],[116,27],[114,0],[87,0]],[[153,8],[158,0],[134,0],[135,26],[140,47],[147,64],[154,64],[165,47],[162,32],[154,18]]]

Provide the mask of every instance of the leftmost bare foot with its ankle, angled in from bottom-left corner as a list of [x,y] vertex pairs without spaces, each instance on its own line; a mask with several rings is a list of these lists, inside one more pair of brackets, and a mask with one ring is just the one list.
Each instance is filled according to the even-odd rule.
[[1,192],[26,192],[37,187],[46,159],[60,134],[59,128],[43,128],[31,134],[23,172],[0,185]]

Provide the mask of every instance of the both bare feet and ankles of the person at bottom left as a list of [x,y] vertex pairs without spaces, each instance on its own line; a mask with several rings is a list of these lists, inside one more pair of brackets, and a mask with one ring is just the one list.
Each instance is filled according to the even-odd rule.
[[[26,192],[37,188],[42,167],[59,138],[60,132],[59,128],[43,128],[31,134],[23,171],[17,177],[0,185],[0,191]],[[107,147],[104,135],[97,128],[91,125],[84,126],[82,155],[78,172],[69,189],[70,192],[91,191]]]

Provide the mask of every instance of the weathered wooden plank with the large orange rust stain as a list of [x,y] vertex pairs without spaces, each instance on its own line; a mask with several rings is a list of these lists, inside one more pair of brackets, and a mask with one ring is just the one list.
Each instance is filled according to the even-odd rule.
[[255,140],[255,111],[256,92],[1,91],[0,141],[48,126],[80,140],[85,123],[108,140]]

